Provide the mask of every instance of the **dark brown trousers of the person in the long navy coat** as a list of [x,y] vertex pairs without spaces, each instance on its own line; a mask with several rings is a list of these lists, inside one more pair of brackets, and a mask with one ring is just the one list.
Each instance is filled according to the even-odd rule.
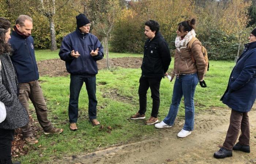
[[234,147],[239,131],[241,129],[241,135],[238,142],[241,145],[249,145],[250,142],[250,126],[248,112],[237,112],[231,110],[229,129],[227,130],[226,139],[223,144],[223,148],[232,150]]

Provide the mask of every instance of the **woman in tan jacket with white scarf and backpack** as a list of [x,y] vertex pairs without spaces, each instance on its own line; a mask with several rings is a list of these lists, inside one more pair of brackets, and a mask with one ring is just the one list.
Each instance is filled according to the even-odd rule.
[[[204,73],[207,63],[204,60],[202,47],[199,40],[195,40],[196,33],[195,19],[183,21],[178,24],[176,31],[177,37],[175,40],[176,52],[174,56],[174,74],[176,80],[173,87],[172,104],[165,119],[155,124],[156,128],[170,128],[174,124],[177,116],[178,108],[182,96],[184,96],[185,105],[185,124],[183,129],[178,133],[178,137],[187,137],[191,134],[194,127],[194,94],[197,83],[205,87]],[[192,40],[191,48],[188,48],[188,43]]]

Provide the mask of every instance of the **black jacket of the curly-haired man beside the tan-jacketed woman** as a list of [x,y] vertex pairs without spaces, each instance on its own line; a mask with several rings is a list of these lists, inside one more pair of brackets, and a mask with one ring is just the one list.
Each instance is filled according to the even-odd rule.
[[155,37],[147,39],[144,45],[144,56],[142,61],[143,77],[164,77],[171,62],[170,49],[158,32]]

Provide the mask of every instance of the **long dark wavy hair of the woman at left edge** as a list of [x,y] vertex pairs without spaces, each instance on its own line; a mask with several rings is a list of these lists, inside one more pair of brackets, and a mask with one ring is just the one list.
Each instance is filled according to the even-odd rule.
[[12,51],[11,45],[5,42],[5,33],[11,27],[9,20],[0,17],[0,54],[10,53]]

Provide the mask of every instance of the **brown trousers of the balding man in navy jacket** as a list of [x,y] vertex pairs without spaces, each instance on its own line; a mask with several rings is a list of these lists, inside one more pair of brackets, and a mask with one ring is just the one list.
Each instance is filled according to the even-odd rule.
[[[19,83],[19,101],[29,114],[29,99],[34,105],[37,120],[44,130],[53,128],[52,123],[47,119],[47,107],[44,95],[38,81]],[[33,136],[30,124],[20,128],[23,138]]]

